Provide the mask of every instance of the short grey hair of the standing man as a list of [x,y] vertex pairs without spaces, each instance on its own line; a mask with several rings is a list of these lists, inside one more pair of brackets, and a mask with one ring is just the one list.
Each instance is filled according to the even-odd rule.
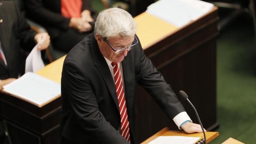
[[109,8],[100,12],[95,22],[96,33],[104,40],[111,37],[126,38],[135,35],[135,20],[127,11],[119,8]]

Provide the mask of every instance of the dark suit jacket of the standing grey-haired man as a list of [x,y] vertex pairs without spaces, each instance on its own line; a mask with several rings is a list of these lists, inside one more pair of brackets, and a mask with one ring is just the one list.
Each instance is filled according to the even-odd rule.
[[[135,139],[136,83],[144,87],[173,119],[185,111],[163,76],[135,45],[122,61],[126,107],[132,141]],[[115,84],[93,34],[69,52],[61,78],[62,136],[80,143],[126,144],[117,131],[121,125]]]

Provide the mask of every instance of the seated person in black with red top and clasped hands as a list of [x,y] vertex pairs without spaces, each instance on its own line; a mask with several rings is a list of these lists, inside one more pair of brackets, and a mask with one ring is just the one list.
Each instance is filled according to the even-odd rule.
[[26,0],[28,18],[48,31],[54,48],[69,52],[92,32],[91,0]]

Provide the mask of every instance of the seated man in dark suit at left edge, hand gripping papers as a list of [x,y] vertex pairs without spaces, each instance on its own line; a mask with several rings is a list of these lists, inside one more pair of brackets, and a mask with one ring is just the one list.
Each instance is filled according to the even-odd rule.
[[[48,33],[36,34],[13,1],[0,0],[0,90],[24,74],[24,50],[32,50],[39,41],[38,49],[46,49],[50,44]],[[1,116],[0,123],[0,144],[3,144],[5,133]]]

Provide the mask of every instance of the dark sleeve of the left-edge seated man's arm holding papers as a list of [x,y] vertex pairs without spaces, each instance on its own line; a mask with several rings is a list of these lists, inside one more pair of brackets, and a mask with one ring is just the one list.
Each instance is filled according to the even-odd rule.
[[33,31],[30,26],[28,25],[24,16],[20,13],[19,8],[14,3],[17,15],[17,37],[20,40],[21,47],[26,51],[31,51],[32,48],[35,46],[35,34],[36,32]]

